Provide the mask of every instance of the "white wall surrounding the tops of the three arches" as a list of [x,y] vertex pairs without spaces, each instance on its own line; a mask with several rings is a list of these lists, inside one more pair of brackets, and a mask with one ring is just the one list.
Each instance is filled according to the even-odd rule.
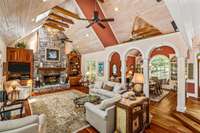
[[[143,58],[148,58],[149,53],[155,47],[162,45],[171,46],[175,49],[178,56],[186,57],[187,55],[187,45],[184,43],[180,33],[167,34],[163,36],[158,36],[154,38],[138,40],[134,42],[129,42],[126,44],[120,44],[112,47],[107,47],[103,51],[88,53],[82,55],[82,74],[86,73],[86,62],[87,60],[95,60],[96,63],[104,62],[104,77],[103,79],[108,79],[109,65],[108,58],[112,52],[116,51],[120,54],[121,59],[125,60],[125,56],[129,50],[136,48],[140,50]],[[96,65],[97,66],[97,65]],[[97,71],[96,71],[97,72]],[[101,78],[101,77],[98,77]]]

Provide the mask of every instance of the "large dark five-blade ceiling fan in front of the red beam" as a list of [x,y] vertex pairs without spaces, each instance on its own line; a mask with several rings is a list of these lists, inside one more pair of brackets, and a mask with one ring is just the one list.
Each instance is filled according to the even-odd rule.
[[114,21],[114,18],[105,18],[105,19],[101,19],[99,16],[99,12],[96,9],[96,1],[95,1],[95,7],[94,7],[94,12],[93,12],[93,18],[92,19],[86,19],[86,18],[80,18],[80,20],[87,20],[90,22],[90,24],[88,26],[86,26],[86,28],[91,27],[94,24],[98,24],[101,28],[106,28],[106,26],[103,24],[103,22],[112,22]]

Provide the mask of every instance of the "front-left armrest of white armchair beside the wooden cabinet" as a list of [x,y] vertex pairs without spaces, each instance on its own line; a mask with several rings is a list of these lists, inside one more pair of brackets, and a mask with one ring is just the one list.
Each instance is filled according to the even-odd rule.
[[84,106],[85,106],[85,109],[86,109],[86,113],[87,113],[87,110],[89,110],[90,112],[100,116],[101,118],[106,119],[106,117],[107,117],[106,112],[103,111],[103,110],[100,110],[94,104],[87,102],[87,103],[84,104]]

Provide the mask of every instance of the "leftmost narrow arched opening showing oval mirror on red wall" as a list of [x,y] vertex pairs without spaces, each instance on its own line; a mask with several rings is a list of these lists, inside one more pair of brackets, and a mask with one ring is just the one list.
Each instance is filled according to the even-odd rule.
[[112,53],[109,60],[109,80],[121,82],[121,59],[117,52]]

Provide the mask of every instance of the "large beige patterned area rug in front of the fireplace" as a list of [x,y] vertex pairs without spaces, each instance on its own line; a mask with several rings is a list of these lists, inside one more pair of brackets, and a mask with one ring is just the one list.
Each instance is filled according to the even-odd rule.
[[33,114],[46,114],[47,133],[73,133],[88,125],[83,108],[73,103],[73,99],[84,95],[69,90],[32,97],[29,104]]

